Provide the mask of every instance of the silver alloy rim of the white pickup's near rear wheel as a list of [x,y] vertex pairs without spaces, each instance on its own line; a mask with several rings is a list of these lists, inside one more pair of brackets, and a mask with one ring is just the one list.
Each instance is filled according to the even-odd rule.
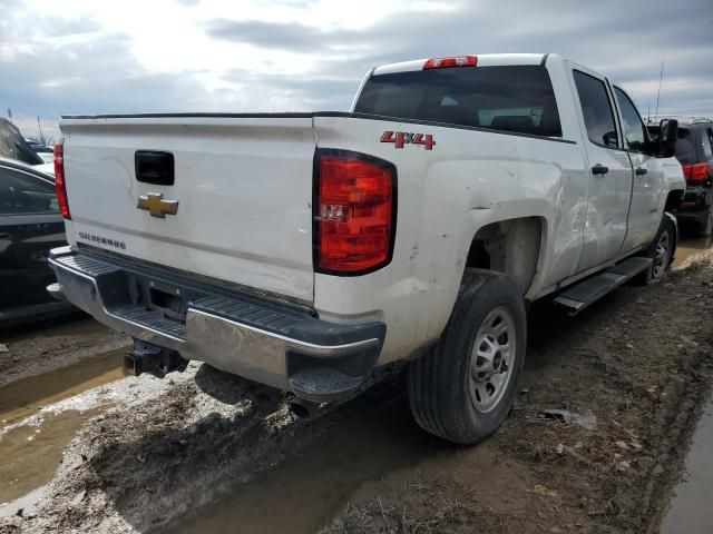
[[470,355],[470,398],[480,413],[492,411],[508,388],[516,350],[515,319],[504,307],[485,318]]

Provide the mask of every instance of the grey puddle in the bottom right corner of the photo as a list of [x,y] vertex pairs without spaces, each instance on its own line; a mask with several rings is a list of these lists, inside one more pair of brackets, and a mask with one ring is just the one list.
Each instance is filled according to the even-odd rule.
[[713,523],[713,399],[703,411],[686,457],[686,477],[674,491],[662,534],[707,534]]

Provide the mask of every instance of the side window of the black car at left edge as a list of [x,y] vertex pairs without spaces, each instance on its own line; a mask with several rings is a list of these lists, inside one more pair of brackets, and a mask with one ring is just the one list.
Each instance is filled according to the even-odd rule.
[[59,214],[55,187],[20,170],[0,167],[0,215]]

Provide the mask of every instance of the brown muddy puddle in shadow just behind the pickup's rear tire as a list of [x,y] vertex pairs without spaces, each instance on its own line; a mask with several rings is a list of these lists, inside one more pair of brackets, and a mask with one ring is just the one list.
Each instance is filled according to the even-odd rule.
[[314,533],[369,481],[443,449],[413,423],[404,398],[350,418],[248,482],[237,484],[172,534]]

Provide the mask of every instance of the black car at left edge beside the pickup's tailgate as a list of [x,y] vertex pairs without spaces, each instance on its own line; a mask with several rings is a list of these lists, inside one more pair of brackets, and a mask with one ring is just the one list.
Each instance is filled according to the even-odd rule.
[[53,178],[0,157],[0,328],[72,309],[46,289],[55,281],[48,253],[64,245]]

